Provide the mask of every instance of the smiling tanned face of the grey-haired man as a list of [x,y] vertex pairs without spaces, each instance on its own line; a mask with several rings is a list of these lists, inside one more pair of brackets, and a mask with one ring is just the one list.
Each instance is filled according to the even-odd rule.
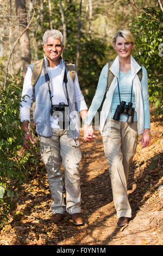
[[64,50],[64,45],[61,44],[60,39],[54,39],[48,36],[45,45],[42,45],[42,47],[50,64],[51,62],[59,63],[59,59]]

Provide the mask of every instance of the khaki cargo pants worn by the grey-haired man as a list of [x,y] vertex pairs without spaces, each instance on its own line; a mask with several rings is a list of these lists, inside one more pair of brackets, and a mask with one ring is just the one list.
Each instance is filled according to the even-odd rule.
[[[51,137],[39,135],[42,161],[45,163],[49,188],[52,194],[53,214],[80,212],[79,162],[82,158],[79,140],[71,130],[52,129]],[[61,160],[65,172],[66,204],[63,195]]]

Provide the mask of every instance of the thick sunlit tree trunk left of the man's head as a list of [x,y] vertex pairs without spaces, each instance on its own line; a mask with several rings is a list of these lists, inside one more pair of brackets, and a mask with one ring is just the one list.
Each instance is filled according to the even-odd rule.
[[[27,12],[25,0],[15,0],[16,14],[19,21],[20,34],[27,27]],[[23,75],[27,72],[27,66],[30,64],[30,41],[28,31],[26,31],[20,38],[21,55],[22,55],[22,71]]]

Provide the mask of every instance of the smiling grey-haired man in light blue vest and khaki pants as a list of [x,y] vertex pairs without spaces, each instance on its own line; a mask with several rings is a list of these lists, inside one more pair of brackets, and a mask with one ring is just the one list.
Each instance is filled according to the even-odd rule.
[[[34,94],[31,82],[34,64],[28,66],[22,91],[25,101],[22,100],[20,107],[22,129],[26,131],[23,147],[29,149],[27,140],[34,144],[32,135],[28,130],[28,123],[30,108],[35,98],[33,118],[40,140],[41,157],[47,169],[49,188],[52,194],[51,210],[53,216],[51,220],[55,223],[60,222],[67,211],[72,216],[73,224],[81,225],[83,224],[79,181],[81,153],[78,139],[80,119],[77,113],[79,112],[82,120],[85,121],[87,106],[79,87],[77,73],[75,72],[76,76],[73,83],[61,57],[64,50],[62,38],[61,32],[55,29],[47,31],[43,35],[44,66],[35,84]],[[50,80],[49,87],[45,78],[46,72]],[[67,82],[65,82],[65,74]],[[55,110],[56,106],[60,106],[59,103],[65,104],[64,106],[69,111],[68,122],[70,121],[70,126],[67,130],[59,125],[60,112],[51,112],[52,106]],[[66,204],[62,191],[61,159],[65,171]]]

